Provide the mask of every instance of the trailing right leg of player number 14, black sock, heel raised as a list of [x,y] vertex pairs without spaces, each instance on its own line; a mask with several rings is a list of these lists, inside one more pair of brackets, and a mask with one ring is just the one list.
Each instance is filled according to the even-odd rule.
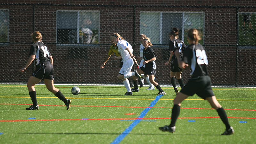
[[71,100],[66,99],[65,96],[62,94],[62,92],[59,89],[55,88],[54,80],[44,79],[44,84],[46,85],[46,88],[50,92],[52,92],[56,97],[58,97],[60,100],[62,100],[65,103],[67,110],[68,110],[70,108]]

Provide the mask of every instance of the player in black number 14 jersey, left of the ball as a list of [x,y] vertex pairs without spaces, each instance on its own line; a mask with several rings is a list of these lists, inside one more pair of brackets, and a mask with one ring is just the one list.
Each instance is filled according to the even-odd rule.
[[44,80],[44,83],[50,92],[55,94],[56,97],[58,97],[65,103],[68,110],[70,108],[71,100],[66,99],[65,96],[60,92],[60,90],[54,87],[52,55],[46,45],[42,42],[42,35],[39,31],[36,31],[31,35],[34,44],[32,44],[30,47],[30,57],[25,67],[19,70],[20,72],[24,72],[24,70],[28,68],[33,60],[36,59],[36,70],[34,71],[32,76],[30,76],[27,83],[29,95],[33,102],[33,105],[31,105],[29,108],[26,108],[26,110],[35,110],[39,108],[36,100],[36,89],[34,86],[41,80]]

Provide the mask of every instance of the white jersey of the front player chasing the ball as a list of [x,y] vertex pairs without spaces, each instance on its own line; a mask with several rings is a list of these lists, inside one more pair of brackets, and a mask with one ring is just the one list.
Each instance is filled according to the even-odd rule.
[[125,50],[127,47],[129,48],[130,52],[133,53],[133,49],[131,44],[129,44],[126,40],[120,40],[117,43],[118,51],[120,52],[123,61],[130,59],[130,54],[127,50]]

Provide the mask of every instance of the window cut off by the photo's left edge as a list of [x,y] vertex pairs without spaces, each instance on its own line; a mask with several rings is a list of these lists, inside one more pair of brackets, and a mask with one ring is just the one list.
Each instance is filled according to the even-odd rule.
[[9,42],[9,10],[0,9],[0,43]]

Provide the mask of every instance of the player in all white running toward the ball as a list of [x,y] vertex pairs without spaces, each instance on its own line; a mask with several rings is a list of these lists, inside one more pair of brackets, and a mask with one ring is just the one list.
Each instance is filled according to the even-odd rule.
[[133,59],[135,59],[135,56],[133,56],[132,52],[132,46],[130,43],[128,43],[126,40],[124,40],[118,33],[114,33],[112,35],[112,40],[115,44],[117,44],[118,51],[120,52],[121,56],[116,57],[114,56],[114,59],[123,59],[123,66],[119,71],[118,78],[123,79],[123,83],[125,88],[127,89],[127,92],[124,95],[132,95],[132,90],[129,84],[129,81],[127,78],[134,76],[135,72],[131,72],[133,67]]

